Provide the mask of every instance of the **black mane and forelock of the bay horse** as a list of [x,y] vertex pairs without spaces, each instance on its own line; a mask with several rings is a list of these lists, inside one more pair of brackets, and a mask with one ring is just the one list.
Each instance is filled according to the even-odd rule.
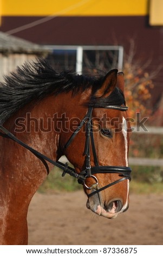
[[[13,113],[32,100],[41,100],[54,93],[55,95],[72,91],[75,95],[88,88],[95,92],[100,88],[103,77],[95,78],[71,74],[69,71],[56,72],[43,59],[36,63],[24,64],[10,76],[5,76],[5,82],[0,83],[0,123],[3,124]],[[118,88],[107,98],[107,104],[121,105],[124,97]],[[89,102],[96,104],[95,98]],[[98,104],[100,101],[98,101]],[[106,103],[101,99],[101,104]]]

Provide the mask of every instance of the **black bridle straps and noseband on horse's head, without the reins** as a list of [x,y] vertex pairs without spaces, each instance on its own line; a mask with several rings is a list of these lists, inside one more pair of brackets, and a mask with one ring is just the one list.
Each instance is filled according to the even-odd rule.
[[[68,148],[70,143],[73,141],[74,137],[77,135],[77,133],[81,130],[82,126],[86,124],[86,144],[84,149],[84,155],[86,155],[86,163],[85,163],[85,169],[82,170],[80,175],[83,175],[84,180],[82,181],[83,185],[88,188],[89,190],[93,190],[93,192],[88,194],[88,197],[93,196],[96,193],[99,193],[102,190],[105,190],[106,188],[113,186],[115,184],[118,184],[119,182],[129,179],[131,180],[131,168],[127,166],[99,166],[99,161],[97,159],[96,150],[95,150],[95,143],[94,143],[94,136],[93,136],[93,129],[92,129],[92,112],[94,107],[89,107],[88,112],[85,115],[85,117],[82,119],[81,123],[77,126],[77,129],[74,131],[73,135],[69,138],[66,145],[64,145],[64,148]],[[115,105],[107,105],[102,106],[102,108],[109,108],[109,109],[116,109],[119,111],[127,111],[128,107],[126,106],[115,106]],[[95,166],[92,167],[90,165],[90,144],[92,146],[92,152],[94,157],[94,164]],[[98,180],[94,174],[97,173],[117,173],[119,176],[122,176],[122,178],[104,186],[99,189],[97,189]],[[88,187],[86,185],[86,179],[92,177],[95,180],[95,184]],[[79,183],[81,183],[81,180],[78,180]]]

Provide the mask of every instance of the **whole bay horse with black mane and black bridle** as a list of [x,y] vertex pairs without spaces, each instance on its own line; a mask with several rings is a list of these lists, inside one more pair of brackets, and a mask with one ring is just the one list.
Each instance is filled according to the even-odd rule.
[[[129,122],[123,73],[56,72],[43,59],[0,85],[0,243],[28,243],[31,198],[53,167],[73,175],[87,208],[115,218],[128,209]],[[65,155],[74,168],[58,160]],[[53,159],[53,160],[51,160]]]

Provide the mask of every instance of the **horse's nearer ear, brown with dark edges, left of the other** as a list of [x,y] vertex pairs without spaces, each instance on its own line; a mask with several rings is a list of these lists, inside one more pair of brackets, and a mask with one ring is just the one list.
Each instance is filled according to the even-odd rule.
[[113,69],[108,72],[108,74],[103,78],[103,83],[100,89],[95,93],[96,97],[107,97],[110,92],[112,92],[116,86],[117,80],[117,69]]

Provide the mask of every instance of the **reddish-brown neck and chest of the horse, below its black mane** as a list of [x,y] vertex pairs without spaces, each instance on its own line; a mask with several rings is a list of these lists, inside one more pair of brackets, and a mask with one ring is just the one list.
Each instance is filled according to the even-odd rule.
[[[57,119],[58,123],[62,123],[63,113],[69,119],[71,117],[83,118],[87,109],[81,105],[83,99],[87,100],[87,94],[84,92],[74,97],[71,92],[57,96],[49,95],[37,104],[31,103],[20,109],[5,122],[4,126],[30,147],[57,160],[62,155],[61,137],[67,140],[69,133],[57,131],[60,127],[57,126],[54,114],[57,114],[57,118],[61,118]],[[51,120],[53,120],[54,127],[49,126],[49,123],[52,124]],[[22,123],[23,125],[20,126]],[[0,144],[0,187],[2,191],[0,209],[1,213],[3,212],[3,216],[0,215],[0,243],[27,243],[28,206],[37,188],[46,178],[47,170],[40,159],[14,141],[1,137]],[[48,164],[48,167],[51,169],[53,166]],[[17,236],[15,236],[13,222],[17,227]],[[8,230],[10,230],[10,236],[7,235]]]

